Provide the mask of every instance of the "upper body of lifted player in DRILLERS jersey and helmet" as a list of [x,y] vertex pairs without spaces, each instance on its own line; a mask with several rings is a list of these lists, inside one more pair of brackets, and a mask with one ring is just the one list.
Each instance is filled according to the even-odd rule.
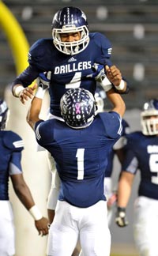
[[[30,48],[29,66],[13,81],[13,96],[19,97],[23,104],[32,98],[35,87],[28,85],[43,72],[47,72],[50,80],[50,111],[55,116],[61,116],[60,99],[69,88],[86,88],[94,95],[96,81],[101,81],[105,91],[112,83],[119,92],[128,92],[120,70],[110,61],[111,49],[106,36],[89,33],[81,9],[64,7],[53,18],[52,38],[37,40]],[[102,73],[107,77],[104,74],[102,77]]]

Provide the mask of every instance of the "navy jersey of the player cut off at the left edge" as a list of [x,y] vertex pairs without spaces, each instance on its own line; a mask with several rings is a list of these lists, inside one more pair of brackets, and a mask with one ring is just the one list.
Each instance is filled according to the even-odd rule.
[[12,131],[0,130],[0,200],[9,200],[9,175],[21,173],[24,142]]

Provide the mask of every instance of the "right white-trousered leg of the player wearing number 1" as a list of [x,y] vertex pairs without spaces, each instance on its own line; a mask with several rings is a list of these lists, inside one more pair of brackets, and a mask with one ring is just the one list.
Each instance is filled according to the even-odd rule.
[[107,223],[107,203],[99,201],[85,209],[80,225],[81,247],[84,256],[109,256],[111,234]]

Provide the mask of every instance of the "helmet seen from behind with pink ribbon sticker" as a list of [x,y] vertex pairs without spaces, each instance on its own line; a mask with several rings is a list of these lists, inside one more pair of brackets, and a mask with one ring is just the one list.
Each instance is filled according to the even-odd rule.
[[70,88],[60,101],[62,118],[74,129],[89,126],[95,116],[96,102],[92,93],[84,88]]

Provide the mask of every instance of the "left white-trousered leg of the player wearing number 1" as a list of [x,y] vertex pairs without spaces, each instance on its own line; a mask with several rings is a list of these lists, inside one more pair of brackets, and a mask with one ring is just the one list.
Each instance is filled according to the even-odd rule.
[[71,256],[78,239],[76,220],[71,214],[71,205],[58,201],[55,219],[51,224],[47,241],[48,256]]

